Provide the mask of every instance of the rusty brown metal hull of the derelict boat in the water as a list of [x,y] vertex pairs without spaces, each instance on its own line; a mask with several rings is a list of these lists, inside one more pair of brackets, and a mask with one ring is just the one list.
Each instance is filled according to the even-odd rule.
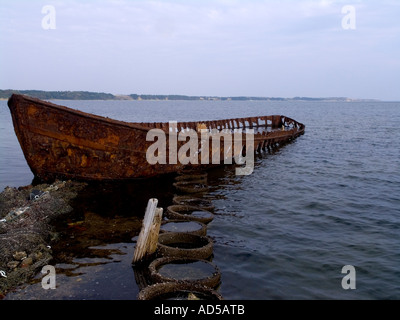
[[[148,131],[155,128],[163,130],[167,136],[168,148],[171,134],[169,123],[117,121],[16,94],[10,97],[8,106],[25,159],[35,177],[43,181],[56,178],[146,178],[177,172],[188,166],[179,161],[176,164],[171,164],[173,161],[167,161],[168,164],[150,164],[146,159],[147,149],[154,144],[154,141],[146,141]],[[198,124],[178,122],[177,128],[178,131],[193,129],[198,132]],[[293,140],[305,130],[303,124],[280,115],[201,121],[201,124],[217,130],[254,128],[258,131],[254,134],[254,152]],[[282,126],[284,130],[279,129]],[[262,128],[268,130],[263,131]],[[200,141],[200,133],[198,135]],[[177,141],[177,148],[185,143]],[[243,137],[243,145],[245,143]],[[223,154],[221,159],[224,159]],[[212,166],[201,163],[199,161],[198,165],[191,166]]]

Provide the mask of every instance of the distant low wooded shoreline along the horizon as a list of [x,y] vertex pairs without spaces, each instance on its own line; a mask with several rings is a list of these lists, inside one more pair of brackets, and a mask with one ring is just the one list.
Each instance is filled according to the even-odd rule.
[[378,99],[352,99],[347,97],[327,97],[327,98],[311,98],[311,97],[254,97],[254,96],[237,96],[237,97],[217,97],[217,96],[186,96],[186,95],[157,95],[157,94],[129,94],[114,95],[104,92],[89,91],[42,91],[42,90],[0,90],[0,100],[8,100],[13,94],[25,94],[42,100],[136,100],[136,101],[325,101],[325,102],[379,102]]

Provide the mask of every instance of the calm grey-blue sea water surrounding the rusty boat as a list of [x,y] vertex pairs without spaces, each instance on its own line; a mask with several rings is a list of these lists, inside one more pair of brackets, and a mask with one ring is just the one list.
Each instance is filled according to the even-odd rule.
[[[58,103],[125,121],[283,114],[304,123],[306,134],[258,158],[252,175],[235,176],[230,167],[209,173],[206,197],[217,215],[208,235],[222,273],[219,292],[225,299],[400,299],[400,103]],[[0,187],[29,184],[5,101],[0,139]],[[82,196],[75,211],[98,226],[140,223],[144,199],[171,204],[171,184],[104,186]],[[54,249],[57,289],[42,289],[38,276],[6,298],[136,299],[137,236],[68,232]],[[355,267],[356,289],[342,288],[345,265]]]

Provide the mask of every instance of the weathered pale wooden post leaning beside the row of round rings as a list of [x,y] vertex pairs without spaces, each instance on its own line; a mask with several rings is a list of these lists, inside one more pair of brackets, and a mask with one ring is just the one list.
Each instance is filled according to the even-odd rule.
[[133,263],[139,262],[157,250],[158,234],[162,219],[162,208],[157,208],[158,200],[150,199],[147,203],[142,229],[136,243]]

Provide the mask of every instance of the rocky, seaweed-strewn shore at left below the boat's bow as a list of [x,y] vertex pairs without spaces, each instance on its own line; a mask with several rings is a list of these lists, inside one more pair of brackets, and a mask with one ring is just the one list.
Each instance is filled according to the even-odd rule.
[[72,211],[71,200],[85,186],[56,181],[0,193],[0,299],[49,264],[57,238],[52,221]]

